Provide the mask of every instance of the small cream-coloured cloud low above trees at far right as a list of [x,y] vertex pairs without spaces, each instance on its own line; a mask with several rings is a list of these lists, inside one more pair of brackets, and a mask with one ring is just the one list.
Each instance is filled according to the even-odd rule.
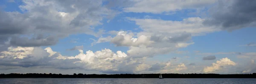
[[236,65],[236,63],[226,57],[226,58],[222,58],[221,60],[217,60],[216,63],[212,63],[212,66],[205,67],[203,71],[205,73],[211,73],[216,70],[221,70],[222,67],[224,66],[230,66],[230,65],[234,66]]

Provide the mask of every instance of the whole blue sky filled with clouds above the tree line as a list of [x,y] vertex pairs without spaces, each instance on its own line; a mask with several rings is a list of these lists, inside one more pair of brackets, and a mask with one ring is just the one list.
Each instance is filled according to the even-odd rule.
[[1,73],[256,73],[256,0],[0,0]]

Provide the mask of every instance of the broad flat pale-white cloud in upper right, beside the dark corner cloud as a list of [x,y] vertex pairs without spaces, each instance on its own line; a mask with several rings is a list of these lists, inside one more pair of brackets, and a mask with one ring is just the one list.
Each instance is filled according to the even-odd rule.
[[207,27],[202,24],[205,19],[190,17],[182,21],[167,21],[161,19],[134,19],[144,31],[159,33],[191,33],[193,36],[218,31],[215,27]]

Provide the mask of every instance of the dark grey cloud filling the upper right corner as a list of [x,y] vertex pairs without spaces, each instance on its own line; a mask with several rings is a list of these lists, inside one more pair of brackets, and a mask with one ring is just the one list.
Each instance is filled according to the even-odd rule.
[[236,30],[256,26],[256,0],[218,0],[209,9],[210,19],[204,24],[220,26],[222,30]]

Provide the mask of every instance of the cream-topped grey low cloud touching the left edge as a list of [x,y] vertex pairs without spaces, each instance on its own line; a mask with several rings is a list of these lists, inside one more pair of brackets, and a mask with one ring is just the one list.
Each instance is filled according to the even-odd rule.
[[41,49],[40,47],[9,47],[8,51],[0,52],[0,65],[13,67],[47,67],[47,68],[79,68],[73,65],[73,60],[58,60],[55,51],[51,48]]

